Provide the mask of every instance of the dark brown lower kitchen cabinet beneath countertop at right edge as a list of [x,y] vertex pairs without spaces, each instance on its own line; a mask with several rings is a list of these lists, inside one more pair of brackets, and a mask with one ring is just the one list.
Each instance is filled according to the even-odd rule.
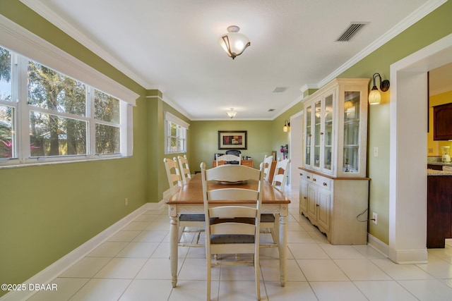
[[427,247],[452,238],[452,176],[427,176]]

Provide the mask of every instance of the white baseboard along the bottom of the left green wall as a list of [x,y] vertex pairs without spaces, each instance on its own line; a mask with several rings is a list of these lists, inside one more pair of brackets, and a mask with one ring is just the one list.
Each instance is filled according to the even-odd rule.
[[[40,284],[47,284],[54,280],[54,278],[57,278],[59,274],[66,271],[66,269],[69,269],[73,264],[78,262],[78,260],[85,257],[87,254],[92,252],[96,247],[98,247],[102,242],[105,242],[108,240],[112,235],[120,231],[122,228],[127,226],[131,221],[136,219],[138,216],[143,214],[147,210],[155,210],[155,209],[162,209],[165,206],[165,202],[162,200],[158,203],[146,203],[143,204],[140,208],[136,209],[135,211],[131,212],[131,214],[124,216],[123,219],[120,219],[116,223],[114,223],[112,226],[109,226],[107,229],[102,231],[101,233],[95,235],[95,237],[91,238],[87,242],[85,242],[80,247],[77,247],[75,250],[72,250],[69,252],[69,254],[66,254],[64,257],[61,257],[53,264],[47,266],[47,268],[43,269],[39,273],[37,273],[35,276],[32,276],[27,281],[24,281],[25,285],[28,288],[28,285],[31,283],[40,283]],[[30,290],[16,290],[11,291],[4,295],[3,297],[0,297],[0,301],[21,301],[21,300],[27,300],[29,297],[31,297],[33,294],[35,294],[35,291]]]

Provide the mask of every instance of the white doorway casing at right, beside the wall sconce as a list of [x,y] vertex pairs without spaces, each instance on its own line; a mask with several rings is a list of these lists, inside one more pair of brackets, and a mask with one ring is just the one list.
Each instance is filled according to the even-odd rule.
[[452,34],[391,65],[388,256],[400,264],[427,262],[427,72],[451,62]]

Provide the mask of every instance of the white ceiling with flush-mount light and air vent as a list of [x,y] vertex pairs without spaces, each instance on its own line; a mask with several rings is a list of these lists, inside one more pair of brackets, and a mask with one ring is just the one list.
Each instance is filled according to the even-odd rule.
[[[234,119],[272,120],[444,2],[21,1],[191,120],[227,119],[232,107]],[[335,42],[352,22],[368,24]],[[251,41],[234,60],[218,44],[229,25]]]

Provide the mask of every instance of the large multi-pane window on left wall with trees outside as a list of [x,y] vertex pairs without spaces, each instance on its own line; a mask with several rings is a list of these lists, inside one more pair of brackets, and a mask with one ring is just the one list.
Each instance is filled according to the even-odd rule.
[[0,164],[130,156],[131,106],[0,47]]

